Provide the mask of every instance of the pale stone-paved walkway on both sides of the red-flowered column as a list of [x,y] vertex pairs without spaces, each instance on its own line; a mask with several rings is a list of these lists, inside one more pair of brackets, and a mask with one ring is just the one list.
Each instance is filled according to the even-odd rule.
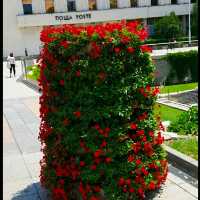
[[[19,76],[20,68],[17,67]],[[41,159],[39,128],[39,94],[17,78],[3,83],[3,200],[49,200],[39,184]],[[196,200],[197,181],[170,166],[166,184],[154,200]],[[150,198],[148,198],[149,200]]]

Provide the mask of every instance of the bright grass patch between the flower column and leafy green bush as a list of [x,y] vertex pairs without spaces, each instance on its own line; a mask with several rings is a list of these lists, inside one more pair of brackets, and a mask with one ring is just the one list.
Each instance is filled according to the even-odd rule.
[[156,103],[154,107],[155,116],[160,115],[162,121],[174,122],[178,119],[179,115],[182,112],[185,112],[185,111],[172,108],[166,105],[158,104],[158,103]]

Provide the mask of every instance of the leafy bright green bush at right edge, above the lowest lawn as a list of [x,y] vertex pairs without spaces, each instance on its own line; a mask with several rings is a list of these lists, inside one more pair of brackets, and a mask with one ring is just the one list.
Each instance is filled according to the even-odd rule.
[[183,112],[176,122],[169,127],[170,131],[183,135],[198,135],[198,108],[193,106],[189,111]]

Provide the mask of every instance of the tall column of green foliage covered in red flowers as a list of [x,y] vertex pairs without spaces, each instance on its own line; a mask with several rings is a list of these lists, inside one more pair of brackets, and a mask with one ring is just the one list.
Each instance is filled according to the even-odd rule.
[[41,32],[41,183],[53,199],[143,199],[166,179],[146,37],[124,21]]

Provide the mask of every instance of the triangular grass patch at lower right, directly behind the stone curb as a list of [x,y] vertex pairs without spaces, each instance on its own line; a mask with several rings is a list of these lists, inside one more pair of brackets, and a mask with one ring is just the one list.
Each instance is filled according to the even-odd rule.
[[198,160],[198,141],[196,138],[165,142],[171,148]]

